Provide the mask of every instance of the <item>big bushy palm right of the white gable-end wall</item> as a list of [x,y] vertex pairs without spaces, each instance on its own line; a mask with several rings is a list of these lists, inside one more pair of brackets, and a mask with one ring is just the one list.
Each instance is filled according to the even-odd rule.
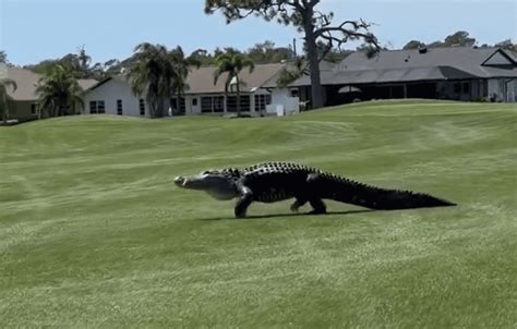
[[137,45],[128,77],[133,93],[145,95],[152,117],[163,117],[164,99],[170,99],[176,77],[167,47],[148,42]]

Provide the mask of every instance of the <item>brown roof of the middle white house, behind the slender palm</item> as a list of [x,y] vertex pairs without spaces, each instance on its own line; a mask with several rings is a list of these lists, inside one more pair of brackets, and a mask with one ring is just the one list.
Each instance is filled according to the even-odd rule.
[[[247,93],[253,88],[262,87],[267,81],[275,76],[285,64],[257,64],[255,70],[250,73],[250,70],[245,68],[239,75],[241,81],[245,83],[241,90]],[[215,94],[225,93],[225,82],[227,74],[223,74],[217,84],[214,85],[214,72],[215,66],[206,66],[200,69],[193,69],[188,78],[187,83],[190,88],[185,90],[185,94]]]

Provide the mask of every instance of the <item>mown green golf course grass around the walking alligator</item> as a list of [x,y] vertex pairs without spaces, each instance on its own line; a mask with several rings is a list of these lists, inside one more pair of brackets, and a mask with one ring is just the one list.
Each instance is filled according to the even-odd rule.
[[[0,327],[516,328],[517,109],[83,117],[0,130]],[[289,160],[453,208],[287,216],[178,174]],[[305,210],[306,208],[304,208]],[[348,212],[348,214],[347,214]]]

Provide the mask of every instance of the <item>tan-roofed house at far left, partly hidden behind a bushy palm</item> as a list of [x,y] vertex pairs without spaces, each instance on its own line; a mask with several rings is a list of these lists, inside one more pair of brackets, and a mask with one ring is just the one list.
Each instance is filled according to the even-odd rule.
[[[32,71],[0,64],[0,77],[8,77],[16,83],[16,90],[8,88],[9,118],[19,122],[38,119],[38,95],[36,86],[41,75]],[[84,89],[97,83],[95,80],[77,80]]]

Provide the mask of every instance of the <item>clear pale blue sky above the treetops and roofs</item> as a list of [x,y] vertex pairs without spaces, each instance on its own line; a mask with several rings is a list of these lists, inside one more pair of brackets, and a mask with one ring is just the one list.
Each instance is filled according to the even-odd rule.
[[[226,24],[206,15],[204,0],[0,0],[0,50],[17,65],[76,52],[84,45],[94,62],[125,59],[147,41],[180,45],[187,52],[216,47],[244,50],[272,40],[287,47],[302,35],[293,27],[249,17]],[[467,31],[479,45],[517,40],[517,0],[322,0],[334,22],[364,19],[382,45],[443,40]],[[345,48],[353,49],[350,44]]]

